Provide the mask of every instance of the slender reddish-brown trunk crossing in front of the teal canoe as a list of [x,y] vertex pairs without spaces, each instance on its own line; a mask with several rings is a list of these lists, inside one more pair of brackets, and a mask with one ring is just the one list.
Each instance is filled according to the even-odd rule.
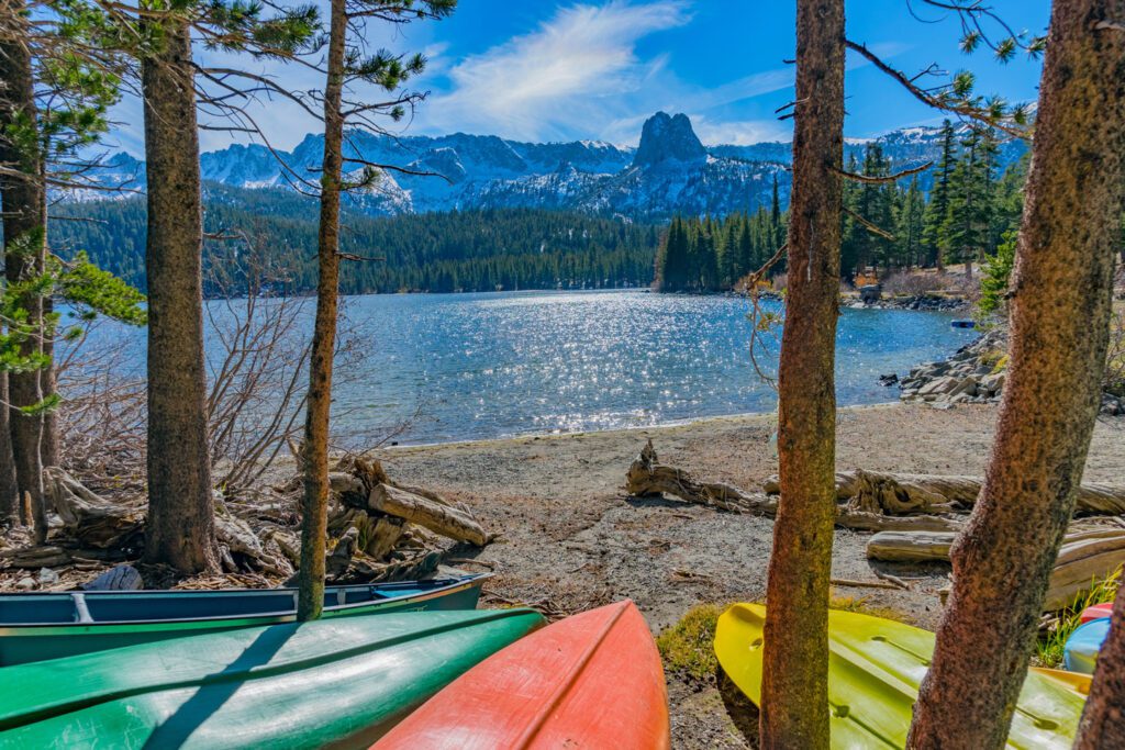
[[297,620],[316,620],[324,606],[324,544],[328,513],[328,413],[332,406],[332,356],[336,343],[340,286],[340,182],[343,170],[344,0],[332,0],[328,72],[324,88],[324,162],[321,177],[321,227],[317,235],[320,278],[316,322],[308,367],[305,417],[305,496],[302,505],[300,575]]

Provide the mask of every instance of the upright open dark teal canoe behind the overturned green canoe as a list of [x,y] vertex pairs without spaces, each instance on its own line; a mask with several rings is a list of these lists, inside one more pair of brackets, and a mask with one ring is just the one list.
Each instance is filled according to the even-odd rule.
[[[324,617],[474,609],[490,573],[330,586]],[[0,667],[296,620],[297,589],[0,594]]]

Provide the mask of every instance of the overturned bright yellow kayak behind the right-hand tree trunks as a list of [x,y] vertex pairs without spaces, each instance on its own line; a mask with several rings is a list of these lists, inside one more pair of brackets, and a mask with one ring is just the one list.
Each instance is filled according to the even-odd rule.
[[[719,617],[714,652],[755,704],[762,701],[762,630],[766,609],[736,604]],[[934,634],[854,612],[828,616],[831,747],[902,748]],[[1083,684],[1056,670],[1032,670],[1019,695],[1009,748],[1070,748],[1086,702]],[[1088,684],[1086,684],[1088,689]]]

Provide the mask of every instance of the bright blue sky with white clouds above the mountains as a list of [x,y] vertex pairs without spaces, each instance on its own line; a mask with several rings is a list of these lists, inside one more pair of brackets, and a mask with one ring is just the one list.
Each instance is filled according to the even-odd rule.
[[[1047,0],[994,0],[1016,29],[1046,28]],[[971,69],[978,90],[1014,101],[1037,94],[1040,63],[1020,55],[1007,65],[987,51],[961,53],[953,13],[921,0],[849,0],[848,37],[914,74],[932,63]],[[911,16],[910,9],[920,19]],[[466,132],[522,141],[597,138],[636,144],[658,109],[687,114],[704,143],[786,141],[791,121],[773,111],[792,98],[793,0],[461,0],[443,21],[402,29],[371,27],[368,44],[430,57],[416,88],[429,99],[410,134]],[[940,121],[864,61],[849,57],[847,135],[867,137]],[[266,65],[291,88],[318,84],[295,66]],[[140,152],[140,111],[124,102],[118,142]],[[317,124],[284,101],[262,102],[256,117],[270,142],[292,147]],[[202,134],[205,150],[232,137]]]

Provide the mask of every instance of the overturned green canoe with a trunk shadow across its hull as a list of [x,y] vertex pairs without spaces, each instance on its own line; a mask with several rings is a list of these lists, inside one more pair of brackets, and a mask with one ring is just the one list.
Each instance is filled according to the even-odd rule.
[[250,627],[0,670],[0,748],[366,748],[530,609]]

